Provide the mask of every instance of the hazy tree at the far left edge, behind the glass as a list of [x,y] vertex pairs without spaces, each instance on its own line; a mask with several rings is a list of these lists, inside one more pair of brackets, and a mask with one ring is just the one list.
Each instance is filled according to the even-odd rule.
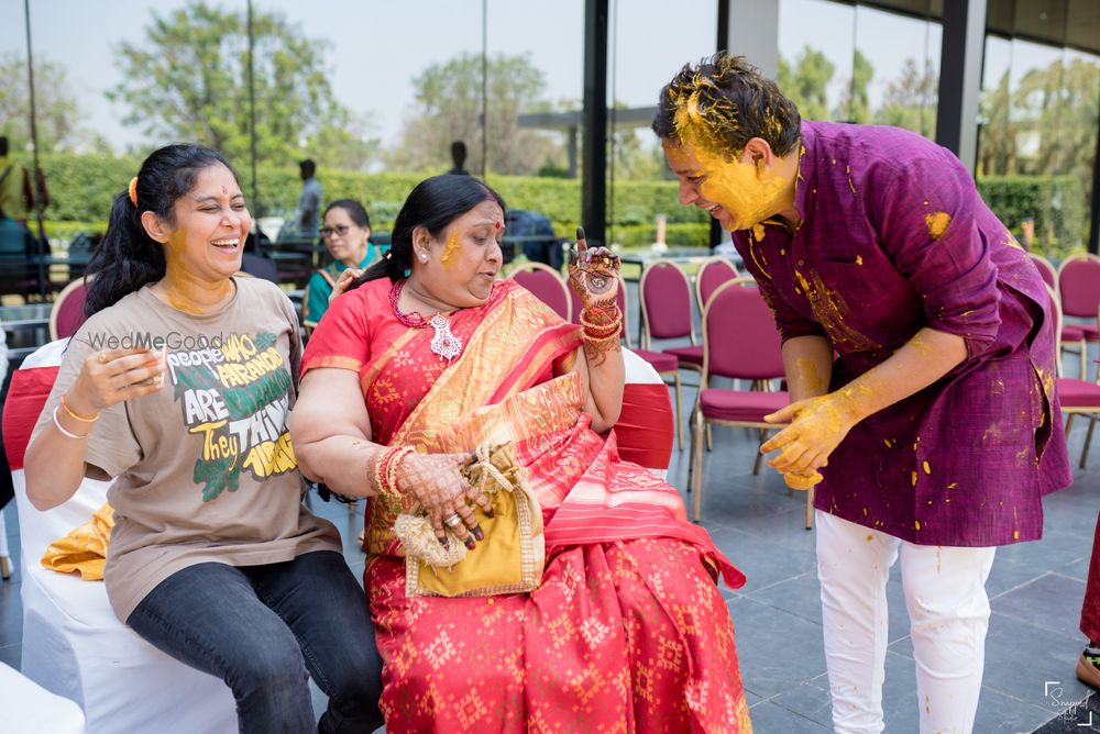
[[[31,138],[31,97],[28,87],[26,57],[18,52],[0,55],[0,135],[7,135],[12,151],[26,147]],[[67,151],[90,141],[91,134],[79,127],[76,100],[68,86],[65,67],[37,57],[34,60],[34,109],[38,151]]]

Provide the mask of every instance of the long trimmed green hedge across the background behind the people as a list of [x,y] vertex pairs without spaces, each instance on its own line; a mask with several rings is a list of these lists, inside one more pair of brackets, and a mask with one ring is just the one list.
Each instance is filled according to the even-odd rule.
[[[114,197],[125,189],[139,165],[135,158],[44,155],[42,166],[53,199],[46,218],[59,222],[106,221]],[[239,173],[248,189],[249,171]],[[294,212],[301,188],[297,169],[261,166],[257,178],[257,215]],[[327,200],[359,199],[367,205],[375,226],[391,229],[402,202],[422,177],[321,170],[320,178]],[[560,236],[569,236],[581,219],[581,182],[576,179],[491,175],[488,181],[509,207],[544,213]],[[985,177],[978,181],[978,190],[1014,232],[1019,233],[1021,221],[1034,219],[1040,246],[1049,254],[1064,255],[1080,248],[1088,235],[1084,185],[1078,178]],[[618,181],[614,192],[608,191],[608,212],[613,237],[625,245],[650,244],[658,214],[668,219],[670,242],[707,242],[707,215],[679,203],[675,181]]]

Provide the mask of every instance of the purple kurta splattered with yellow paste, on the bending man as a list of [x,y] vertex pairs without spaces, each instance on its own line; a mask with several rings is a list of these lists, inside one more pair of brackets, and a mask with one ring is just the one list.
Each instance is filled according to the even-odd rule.
[[1072,481],[1055,394],[1050,300],[1026,253],[948,151],[904,130],[803,122],[792,235],[735,232],[783,340],[826,336],[832,389],[927,326],[967,359],[857,424],[815,507],[920,545],[1043,534]]

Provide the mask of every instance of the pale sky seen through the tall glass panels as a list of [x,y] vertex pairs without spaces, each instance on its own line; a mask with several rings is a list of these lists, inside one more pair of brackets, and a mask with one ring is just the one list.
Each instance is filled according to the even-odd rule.
[[[208,0],[245,9],[244,0]],[[877,105],[889,79],[906,58],[939,63],[939,26],[828,0],[777,0],[780,53],[795,57],[804,46],[835,64],[831,103],[851,74],[855,45],[876,68],[870,85]],[[254,0],[254,8],[286,15],[323,49],[338,99],[370,115],[372,136],[384,146],[399,141],[414,112],[411,79],[432,63],[482,48],[483,0]],[[584,0],[484,0],[490,54],[528,54],[547,80],[553,101],[583,97]],[[120,81],[116,52],[125,40],[141,43],[151,12],[183,8],[185,0],[30,0],[32,44],[38,57],[67,69],[84,123],[114,147],[142,142],[122,124],[125,110],[105,91]],[[736,8],[736,2],[733,3]],[[650,107],[684,63],[714,51],[714,0],[610,0],[613,48],[608,68],[616,98]],[[26,53],[23,0],[0,0],[0,53]],[[735,18],[735,22],[752,22]],[[734,49],[736,51],[736,49]]]

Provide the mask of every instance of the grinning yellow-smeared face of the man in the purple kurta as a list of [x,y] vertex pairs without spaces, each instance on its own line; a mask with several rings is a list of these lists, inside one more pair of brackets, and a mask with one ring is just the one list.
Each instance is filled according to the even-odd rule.
[[707,210],[727,232],[747,230],[793,204],[794,173],[767,143],[752,138],[740,157],[725,160],[689,143],[661,141],[669,167],[680,179],[680,203]]

